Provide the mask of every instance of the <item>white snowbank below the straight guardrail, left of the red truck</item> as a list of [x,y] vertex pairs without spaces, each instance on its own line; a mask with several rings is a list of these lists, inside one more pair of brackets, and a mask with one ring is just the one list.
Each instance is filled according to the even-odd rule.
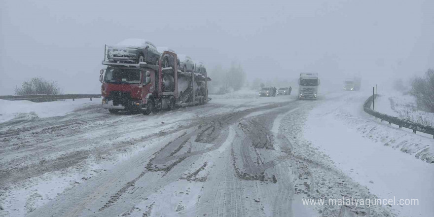
[[99,105],[101,99],[76,99],[34,103],[27,100],[8,101],[0,100],[0,123],[14,118],[34,119],[43,117],[62,116],[76,109]]

